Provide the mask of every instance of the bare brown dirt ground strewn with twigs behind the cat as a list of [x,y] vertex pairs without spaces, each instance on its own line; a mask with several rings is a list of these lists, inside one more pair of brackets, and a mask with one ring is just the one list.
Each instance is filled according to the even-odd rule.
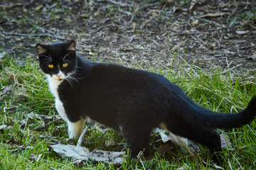
[[1,1],[0,49],[74,39],[87,60],[144,69],[220,69],[254,79],[255,0]]

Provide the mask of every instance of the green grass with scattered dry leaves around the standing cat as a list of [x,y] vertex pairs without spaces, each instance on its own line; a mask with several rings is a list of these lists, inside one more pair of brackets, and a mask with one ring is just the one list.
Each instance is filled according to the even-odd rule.
[[[75,141],[67,140],[66,124],[57,118],[54,98],[48,90],[38,62],[32,59],[16,61],[11,55],[6,55],[0,64],[0,88],[13,84],[13,89],[0,101],[0,125],[7,125],[7,128],[0,130],[0,169],[48,169],[49,166],[53,169],[177,169],[182,166],[186,169],[214,169],[209,165],[208,150],[202,146],[196,160],[186,149],[178,147],[168,151],[165,157],[160,156],[156,151],[161,143],[156,142],[159,136],[155,133],[151,135],[152,159],[148,161],[127,158],[122,166],[102,162],[73,165],[69,159],[59,157],[50,148],[50,145],[57,142],[75,145]],[[221,112],[230,112],[232,108],[235,113],[245,108],[250,98],[256,94],[255,84],[238,77],[222,75],[219,71],[188,71],[186,67],[188,66],[178,66],[158,72],[181,86],[188,96],[203,107]],[[50,117],[29,118],[30,113]],[[223,151],[225,169],[256,169],[255,130],[254,121],[250,125],[225,132],[232,143],[232,150]],[[85,147],[90,151],[96,148],[111,151],[123,149],[122,145],[106,147],[107,140],[124,142],[118,132],[105,130],[102,133],[94,125],[90,125]],[[22,147],[18,149],[19,146]],[[38,162],[31,157],[40,154]]]

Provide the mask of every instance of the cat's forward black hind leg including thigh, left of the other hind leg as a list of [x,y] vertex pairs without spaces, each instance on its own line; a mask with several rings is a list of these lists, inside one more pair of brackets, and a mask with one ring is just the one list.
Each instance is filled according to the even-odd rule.
[[117,115],[117,125],[131,149],[131,157],[136,157],[144,148],[144,156],[149,154],[149,135],[159,125],[162,117],[159,107],[153,103],[151,97],[135,94],[127,97],[119,106],[121,109]]

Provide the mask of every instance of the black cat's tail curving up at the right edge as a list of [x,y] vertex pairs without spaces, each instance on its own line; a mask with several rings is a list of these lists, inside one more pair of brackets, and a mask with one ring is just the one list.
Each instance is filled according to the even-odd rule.
[[198,111],[204,123],[212,128],[238,128],[255,119],[256,96],[253,96],[247,108],[239,113],[217,113],[201,107]]

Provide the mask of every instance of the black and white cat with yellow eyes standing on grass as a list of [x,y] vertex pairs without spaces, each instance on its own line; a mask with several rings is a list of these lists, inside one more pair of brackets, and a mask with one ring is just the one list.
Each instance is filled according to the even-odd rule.
[[160,74],[79,57],[74,40],[37,44],[36,50],[69,137],[80,137],[85,118],[90,118],[120,131],[132,157],[142,149],[149,153],[150,132],[160,127],[208,147],[219,162],[215,128],[238,128],[256,115],[256,96],[240,113],[210,111]]

